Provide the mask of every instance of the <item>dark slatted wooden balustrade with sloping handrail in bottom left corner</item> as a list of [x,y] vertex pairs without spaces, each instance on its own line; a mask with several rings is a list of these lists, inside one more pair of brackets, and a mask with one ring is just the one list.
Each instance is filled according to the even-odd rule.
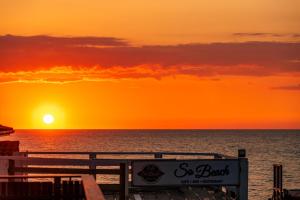
[[[7,181],[0,182],[0,199],[105,199],[90,175],[14,175],[1,176],[1,179]],[[36,180],[28,181],[29,179]]]

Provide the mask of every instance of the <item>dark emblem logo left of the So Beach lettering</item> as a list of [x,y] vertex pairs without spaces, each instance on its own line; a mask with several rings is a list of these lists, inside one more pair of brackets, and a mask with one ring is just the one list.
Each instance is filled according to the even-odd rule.
[[138,173],[146,182],[148,183],[155,183],[159,180],[163,173],[156,165],[149,164],[146,165],[142,171]]

